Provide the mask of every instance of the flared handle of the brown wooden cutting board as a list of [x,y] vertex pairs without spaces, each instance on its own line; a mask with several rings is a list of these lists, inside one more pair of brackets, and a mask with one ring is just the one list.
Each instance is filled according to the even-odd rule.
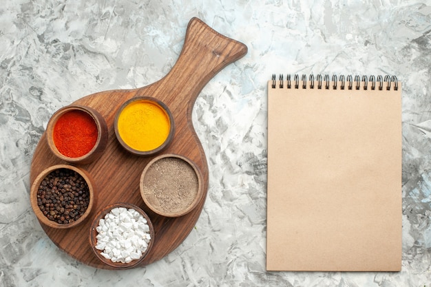
[[154,93],[175,92],[176,95],[170,98],[185,93],[182,96],[194,103],[204,85],[215,74],[246,53],[246,45],[216,32],[194,17],[187,25],[185,42],[174,67],[156,83],[162,91]]

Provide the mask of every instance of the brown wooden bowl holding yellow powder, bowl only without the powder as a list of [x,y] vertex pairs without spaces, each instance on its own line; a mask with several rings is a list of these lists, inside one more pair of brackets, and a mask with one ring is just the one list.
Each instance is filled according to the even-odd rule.
[[[120,118],[120,115],[125,110],[125,108],[130,107],[134,103],[152,104],[155,107],[160,108],[160,110],[162,110],[165,113],[165,115],[167,116],[167,120],[169,121],[169,133],[168,133],[165,141],[162,142],[157,147],[155,147],[154,149],[145,150],[145,151],[136,149],[134,147],[131,147],[129,144],[127,144],[127,142],[126,142],[127,140],[124,140],[121,136],[121,132],[120,132],[119,127],[118,127],[118,119]],[[145,125],[148,125],[148,123],[143,123],[143,126],[145,126]],[[174,134],[175,134],[174,116],[172,116],[171,111],[169,110],[167,105],[165,105],[165,103],[162,103],[162,101],[160,101],[156,98],[152,98],[150,96],[137,96],[135,98],[131,98],[131,99],[127,100],[118,109],[116,116],[115,116],[115,119],[114,119],[114,130],[115,130],[115,135],[116,135],[116,138],[118,139],[118,142],[120,142],[120,145],[123,146],[123,148],[125,150],[129,151],[130,153],[133,153],[136,156],[153,156],[154,154],[159,153],[160,151],[166,149],[170,145],[171,141],[174,139]],[[147,139],[143,137],[143,138],[141,138],[141,140],[145,141]]]

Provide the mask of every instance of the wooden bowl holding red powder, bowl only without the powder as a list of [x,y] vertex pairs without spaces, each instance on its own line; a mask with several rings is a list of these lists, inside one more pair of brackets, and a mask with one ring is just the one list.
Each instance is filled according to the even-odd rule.
[[[78,156],[76,158],[72,158],[70,156],[65,156],[63,153],[57,149],[55,142],[54,142],[54,127],[64,114],[66,114],[68,111],[83,111],[86,114],[90,115],[92,119],[94,120],[94,123],[97,127],[97,139],[96,143],[94,144],[94,147],[85,153],[83,156]],[[82,105],[68,105],[66,107],[63,107],[56,111],[52,117],[50,118],[48,125],[46,127],[46,139],[48,141],[48,147],[50,147],[50,150],[57,158],[61,158],[61,160],[65,160],[66,162],[75,163],[75,164],[87,164],[94,160],[96,160],[99,156],[102,155],[108,140],[108,131],[107,131],[107,124],[105,122],[105,119],[101,114],[98,113],[95,109],[92,109],[91,107],[84,107]]]

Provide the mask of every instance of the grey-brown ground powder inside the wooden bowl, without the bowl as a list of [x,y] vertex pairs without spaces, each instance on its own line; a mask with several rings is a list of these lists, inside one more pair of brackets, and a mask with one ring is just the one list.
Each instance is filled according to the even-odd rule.
[[196,198],[198,188],[193,167],[175,157],[161,158],[151,164],[143,180],[147,200],[164,213],[187,209]]

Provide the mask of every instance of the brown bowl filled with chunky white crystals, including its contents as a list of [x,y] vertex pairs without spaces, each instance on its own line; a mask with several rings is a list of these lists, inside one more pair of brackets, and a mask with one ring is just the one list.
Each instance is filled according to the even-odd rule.
[[151,250],[154,228],[147,213],[134,204],[112,204],[99,211],[90,227],[96,257],[116,269],[138,265]]

